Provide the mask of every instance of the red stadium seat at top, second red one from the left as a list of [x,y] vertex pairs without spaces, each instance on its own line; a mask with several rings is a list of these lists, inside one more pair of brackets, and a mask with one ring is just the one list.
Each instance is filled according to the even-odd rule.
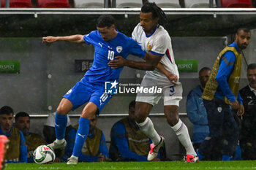
[[40,8],[69,8],[69,0],[37,0]]

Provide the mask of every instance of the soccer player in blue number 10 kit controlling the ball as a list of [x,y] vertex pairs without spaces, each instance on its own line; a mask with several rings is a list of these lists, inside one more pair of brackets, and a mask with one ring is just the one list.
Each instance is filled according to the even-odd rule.
[[143,51],[132,38],[129,38],[116,30],[115,19],[111,15],[101,15],[97,20],[97,30],[91,31],[86,35],[72,36],[46,36],[42,37],[42,42],[68,41],[94,45],[94,63],[83,79],[65,94],[56,110],[56,140],[48,144],[53,149],[66,147],[67,142],[64,139],[67,113],[86,104],[80,119],[78,133],[75,138],[75,146],[72,156],[68,159],[67,164],[77,164],[78,157],[81,153],[84,142],[89,134],[89,123],[91,118],[105,107],[111,94],[105,93],[105,82],[113,82],[116,85],[119,74],[123,67],[111,69],[108,66],[116,56],[121,55],[127,58],[127,55],[137,55],[145,61],[137,62],[140,69],[153,70],[161,57],[158,55],[148,54]]

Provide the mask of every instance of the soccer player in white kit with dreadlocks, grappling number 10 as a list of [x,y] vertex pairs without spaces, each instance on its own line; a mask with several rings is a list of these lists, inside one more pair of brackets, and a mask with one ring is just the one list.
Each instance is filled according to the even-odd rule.
[[[147,71],[143,77],[140,87],[151,88],[157,86],[162,88],[162,93],[138,93],[135,106],[135,120],[140,131],[148,136],[152,141],[151,150],[148,152],[148,161],[153,161],[157,157],[159,148],[164,142],[164,138],[157,134],[154,125],[148,117],[151,108],[158,103],[162,97],[164,100],[164,112],[167,123],[176,132],[179,141],[187,151],[186,161],[199,161],[192,146],[187,126],[179,119],[178,106],[182,98],[181,82],[178,82],[178,68],[174,61],[171,39],[165,28],[167,23],[165,13],[155,3],[143,4],[140,11],[140,23],[134,28],[132,38],[138,42],[143,50],[154,55],[161,55],[157,69]],[[141,69],[140,64],[135,61],[128,61],[118,57],[114,63],[120,62],[122,66],[129,66]]]

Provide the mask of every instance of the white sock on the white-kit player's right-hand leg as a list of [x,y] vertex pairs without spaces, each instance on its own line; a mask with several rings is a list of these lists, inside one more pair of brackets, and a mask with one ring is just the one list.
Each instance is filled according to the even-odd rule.
[[185,147],[187,154],[197,155],[194,150],[194,147],[192,145],[192,142],[190,140],[189,131],[187,130],[187,126],[181,120],[178,120],[178,123],[174,126],[171,126],[171,128],[173,128],[173,131],[176,132],[178,140]]

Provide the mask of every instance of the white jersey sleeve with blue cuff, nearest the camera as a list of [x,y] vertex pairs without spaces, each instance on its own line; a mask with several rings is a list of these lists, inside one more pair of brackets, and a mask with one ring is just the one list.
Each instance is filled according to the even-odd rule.
[[169,41],[170,39],[168,38],[169,36],[165,36],[165,35],[160,35],[157,36],[156,39],[154,39],[153,42],[153,47],[151,49],[151,53],[154,55],[165,55],[165,52],[168,48],[169,45]]

